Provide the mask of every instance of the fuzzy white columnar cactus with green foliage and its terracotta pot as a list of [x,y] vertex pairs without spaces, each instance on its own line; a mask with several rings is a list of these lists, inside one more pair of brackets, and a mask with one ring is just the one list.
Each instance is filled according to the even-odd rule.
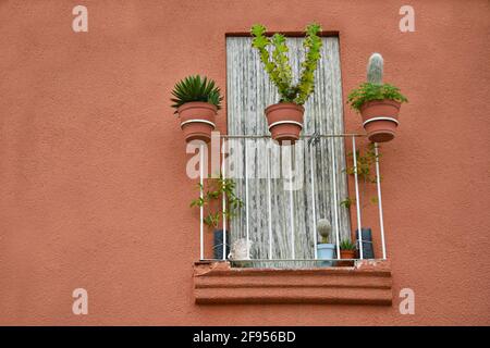
[[360,112],[363,126],[372,142],[390,141],[394,138],[399,125],[401,103],[408,100],[400,89],[383,84],[383,58],[373,53],[367,67],[367,83],[353,89],[347,103]]

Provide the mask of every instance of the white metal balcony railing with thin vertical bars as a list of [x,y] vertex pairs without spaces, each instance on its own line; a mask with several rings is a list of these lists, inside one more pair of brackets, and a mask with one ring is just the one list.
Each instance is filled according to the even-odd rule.
[[[267,169],[265,170],[266,173],[266,177],[265,181],[267,183],[267,185],[265,185],[265,192],[264,192],[264,197],[267,197],[268,203],[267,203],[267,212],[265,212],[269,219],[268,219],[268,225],[264,231],[264,233],[267,233],[269,235],[269,238],[267,240],[268,246],[261,246],[264,250],[268,250],[268,256],[267,257],[262,257],[262,258],[254,258],[253,256],[250,256],[250,233],[249,233],[249,221],[252,219],[254,219],[254,216],[250,215],[250,197],[249,197],[249,166],[253,163],[250,162],[250,157],[248,156],[247,151],[249,151],[249,145],[250,142],[257,142],[257,141],[270,141],[272,144],[272,140],[270,139],[270,137],[268,136],[254,136],[254,135],[218,135],[218,136],[213,136],[215,140],[219,141],[219,149],[220,149],[220,169],[221,169],[221,173],[220,175],[223,178],[234,178],[231,175],[226,176],[229,174],[229,163],[228,163],[228,157],[226,157],[226,152],[229,151],[223,151],[223,148],[225,148],[226,146],[230,146],[230,142],[235,141],[235,142],[243,142],[244,146],[243,147],[237,147],[241,150],[243,150],[243,161],[242,164],[244,165],[242,173],[244,173],[244,177],[241,177],[241,185],[243,186],[243,191],[244,191],[244,197],[243,197],[243,207],[242,207],[242,219],[244,221],[244,226],[242,226],[241,228],[244,231],[241,231],[241,233],[244,234],[244,238],[246,240],[246,254],[243,258],[240,259],[232,259],[230,260],[230,250],[228,245],[230,245],[230,240],[226,240],[228,238],[230,238],[229,236],[229,229],[230,229],[230,225],[229,225],[229,220],[226,219],[226,211],[228,211],[228,206],[226,206],[226,197],[225,195],[222,196],[222,201],[221,201],[221,212],[222,212],[222,219],[221,219],[221,233],[222,233],[222,237],[221,237],[221,249],[222,251],[219,252],[220,257],[219,258],[207,258],[205,256],[205,240],[207,238],[205,238],[205,222],[204,222],[204,209],[205,207],[200,207],[200,211],[199,211],[199,215],[200,215],[200,260],[201,261],[233,261],[233,263],[235,264],[246,264],[246,265],[250,265],[257,263],[257,264],[268,264],[270,262],[273,262],[274,264],[278,264],[278,262],[313,262],[314,264],[326,264],[326,261],[330,262],[331,264],[334,264],[335,261],[341,260],[341,252],[340,252],[340,244],[341,244],[341,232],[340,232],[340,226],[339,226],[339,210],[340,210],[340,199],[339,199],[339,195],[338,195],[338,182],[339,182],[339,177],[342,175],[347,175],[345,173],[345,167],[344,169],[340,169],[338,165],[338,161],[342,160],[344,163],[346,161],[348,161],[347,157],[345,156],[344,152],[344,158],[343,159],[338,159],[338,153],[335,153],[335,151],[331,151],[330,153],[330,161],[329,164],[334,169],[331,171],[332,174],[332,194],[333,194],[333,224],[332,224],[332,232],[333,232],[333,236],[334,236],[334,241],[335,241],[335,257],[332,259],[320,259],[317,252],[317,244],[318,244],[318,234],[316,231],[316,225],[315,222],[317,221],[317,211],[316,211],[316,203],[315,203],[315,197],[316,197],[316,173],[315,173],[315,169],[317,169],[317,166],[314,164],[315,163],[315,145],[316,142],[320,141],[321,139],[326,139],[327,141],[330,141],[329,144],[332,145],[332,147],[334,147],[335,145],[339,146],[339,144],[341,144],[341,146],[345,146],[346,144],[351,142],[350,146],[352,146],[352,176],[353,176],[353,182],[354,182],[354,191],[355,191],[355,214],[353,213],[352,215],[355,215],[355,223],[357,226],[357,249],[358,249],[358,257],[354,258],[354,259],[342,259],[342,261],[354,261],[354,260],[364,260],[364,259],[371,259],[371,258],[366,258],[365,254],[365,241],[367,240],[363,240],[363,212],[362,212],[362,202],[360,202],[360,197],[359,197],[359,175],[358,175],[358,169],[357,169],[357,142],[356,139],[363,139],[365,137],[365,135],[362,134],[311,134],[311,135],[305,135],[302,136],[302,139],[304,141],[304,145],[306,144],[306,151],[305,153],[307,153],[308,157],[308,161],[310,162],[310,171],[309,171],[309,187],[308,189],[311,191],[310,197],[314,200],[313,204],[310,204],[310,210],[308,211],[308,214],[311,214],[311,219],[314,221],[314,225],[313,228],[309,233],[311,234],[310,240],[313,240],[313,250],[310,250],[310,254],[311,257],[308,258],[302,258],[298,257],[296,254],[296,249],[297,249],[297,243],[295,241],[295,237],[297,235],[297,233],[295,232],[295,208],[293,204],[293,189],[290,189],[290,197],[289,199],[291,200],[290,204],[289,204],[289,219],[291,220],[289,222],[289,226],[291,227],[291,233],[290,233],[290,237],[289,237],[289,243],[291,244],[291,246],[289,247],[290,249],[290,256],[289,257],[280,257],[277,258],[273,256],[272,252],[272,248],[273,248],[273,244],[274,244],[274,238],[272,238],[272,199],[271,199],[271,158],[270,158],[270,152],[267,151],[267,153],[261,153],[261,156],[265,156],[266,159],[266,163],[267,163]],[[340,142],[339,142],[340,141]],[[281,151],[287,149],[287,151],[291,151],[291,153],[293,153],[294,149],[298,147],[298,144],[296,142],[296,145],[292,145],[292,146],[282,146],[279,147],[281,149]],[[199,167],[199,183],[200,183],[200,198],[204,198],[204,184],[205,184],[205,179],[206,179],[206,163],[207,162],[207,158],[209,157],[207,151],[209,151],[208,146],[206,145],[200,145],[200,149],[199,149],[199,156],[200,156],[200,167]],[[236,151],[236,149],[235,149]],[[376,171],[376,195],[377,195],[377,206],[378,206],[378,216],[379,216],[379,237],[380,239],[378,239],[380,241],[381,245],[381,260],[385,260],[387,259],[387,248],[385,248],[385,239],[384,239],[384,224],[383,224],[383,210],[382,210],[382,199],[381,199],[381,183],[380,183],[380,165],[379,165],[379,147],[378,144],[373,145],[373,151],[376,153],[375,156],[375,171]],[[262,158],[264,159],[264,158]],[[305,158],[306,161],[306,158]],[[293,163],[293,161],[292,161]],[[291,170],[293,164],[291,163]],[[282,163],[282,165],[284,166],[284,163]],[[354,220],[354,219],[353,219]],[[261,243],[265,243],[264,240]],[[267,244],[266,243],[266,244]],[[309,243],[308,245],[304,246],[305,248],[311,248],[311,243]],[[272,264],[272,263],[271,263]]]

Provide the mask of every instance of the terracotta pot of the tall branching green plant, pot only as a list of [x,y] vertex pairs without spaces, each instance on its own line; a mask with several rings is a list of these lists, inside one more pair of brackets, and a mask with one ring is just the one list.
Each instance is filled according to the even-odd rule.
[[293,102],[280,102],[266,108],[266,117],[272,139],[294,142],[303,129],[305,108]]

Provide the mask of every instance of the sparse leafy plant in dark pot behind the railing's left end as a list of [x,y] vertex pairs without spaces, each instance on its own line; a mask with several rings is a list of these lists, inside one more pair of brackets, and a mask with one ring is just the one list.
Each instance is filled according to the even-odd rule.
[[[198,184],[199,190],[205,188]],[[222,176],[217,178],[208,178],[206,191],[203,197],[191,202],[191,207],[204,207],[206,209],[203,222],[210,229],[213,229],[213,256],[215,259],[223,258],[223,229],[219,229],[220,220],[224,216],[230,219],[236,215],[236,211],[243,207],[243,201],[236,197],[235,183],[231,178],[223,178]],[[222,211],[223,196],[226,200],[226,207],[224,212]],[[229,232],[229,231],[228,231]],[[226,232],[226,246],[225,254],[230,251],[230,238]]]

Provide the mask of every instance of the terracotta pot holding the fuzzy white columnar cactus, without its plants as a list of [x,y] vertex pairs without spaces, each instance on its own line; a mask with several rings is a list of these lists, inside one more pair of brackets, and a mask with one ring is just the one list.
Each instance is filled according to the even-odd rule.
[[385,142],[395,137],[399,126],[400,102],[383,99],[371,100],[360,107],[363,126],[372,142]]

